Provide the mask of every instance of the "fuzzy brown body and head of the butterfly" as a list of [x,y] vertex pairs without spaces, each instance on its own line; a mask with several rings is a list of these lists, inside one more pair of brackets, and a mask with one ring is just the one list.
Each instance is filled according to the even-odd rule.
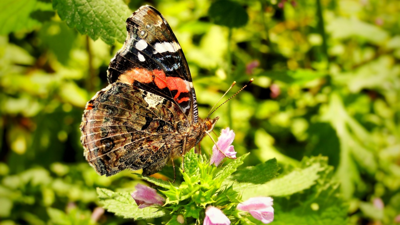
[[198,123],[191,124],[187,132],[178,134],[176,141],[172,145],[172,158],[181,157],[196,146],[203,139],[206,132],[212,131],[219,117],[215,117],[214,119],[198,119]]

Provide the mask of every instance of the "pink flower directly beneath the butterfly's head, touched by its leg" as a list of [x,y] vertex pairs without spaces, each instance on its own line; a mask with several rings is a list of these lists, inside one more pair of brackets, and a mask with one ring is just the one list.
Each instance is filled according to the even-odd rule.
[[227,156],[230,158],[236,158],[236,152],[233,148],[233,145],[231,145],[234,138],[235,133],[231,129],[229,129],[229,127],[226,129],[222,129],[217,141],[217,145],[220,150],[216,147],[216,145],[212,147],[210,165],[214,163],[216,166],[218,166],[221,163],[222,159]]

